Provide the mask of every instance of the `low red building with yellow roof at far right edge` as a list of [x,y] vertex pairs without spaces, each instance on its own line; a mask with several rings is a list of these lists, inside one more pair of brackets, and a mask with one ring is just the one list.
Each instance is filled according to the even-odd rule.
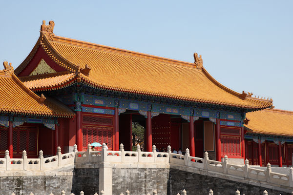
[[[291,166],[293,112],[265,109],[251,112],[244,120],[246,158],[250,164]],[[261,163],[260,163],[261,162]]]

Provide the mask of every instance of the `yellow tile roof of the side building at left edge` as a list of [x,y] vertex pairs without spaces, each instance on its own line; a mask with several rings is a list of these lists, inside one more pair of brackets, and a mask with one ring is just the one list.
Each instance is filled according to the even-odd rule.
[[74,117],[74,112],[61,102],[39,97],[25,87],[21,80],[13,74],[13,68],[7,62],[4,62],[4,67],[6,68],[0,71],[0,113]]

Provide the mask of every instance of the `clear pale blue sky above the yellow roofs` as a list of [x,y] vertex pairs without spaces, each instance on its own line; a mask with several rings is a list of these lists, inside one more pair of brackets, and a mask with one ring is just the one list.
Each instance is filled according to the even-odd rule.
[[292,0],[1,1],[0,69],[29,54],[42,20],[73,39],[193,62],[237,92],[293,111]]

